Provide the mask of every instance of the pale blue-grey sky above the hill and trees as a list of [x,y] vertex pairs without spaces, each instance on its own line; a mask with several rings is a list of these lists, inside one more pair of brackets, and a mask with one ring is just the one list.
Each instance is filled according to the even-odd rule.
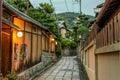
[[[39,3],[50,3],[50,0],[30,0],[33,6],[39,6]],[[75,0],[51,0],[53,7],[55,8],[55,13],[62,12],[80,12],[79,4]],[[65,1],[67,4],[65,4]],[[105,0],[81,0],[81,10],[82,13],[94,16],[94,8],[105,2]],[[68,6],[68,9],[66,7]]]

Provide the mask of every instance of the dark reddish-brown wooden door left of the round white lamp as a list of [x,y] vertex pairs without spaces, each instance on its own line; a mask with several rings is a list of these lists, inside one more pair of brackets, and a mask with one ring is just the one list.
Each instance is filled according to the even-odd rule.
[[5,76],[11,71],[10,30],[2,31],[2,73]]

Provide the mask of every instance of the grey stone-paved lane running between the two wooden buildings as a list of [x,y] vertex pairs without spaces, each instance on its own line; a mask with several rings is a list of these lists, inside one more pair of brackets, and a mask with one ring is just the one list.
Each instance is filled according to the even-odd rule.
[[79,67],[76,57],[62,57],[62,59],[34,80],[80,80]]

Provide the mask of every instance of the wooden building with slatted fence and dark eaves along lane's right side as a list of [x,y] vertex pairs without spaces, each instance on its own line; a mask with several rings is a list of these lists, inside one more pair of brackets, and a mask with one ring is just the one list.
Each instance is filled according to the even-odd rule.
[[80,48],[89,80],[120,79],[119,30],[120,0],[106,0],[85,46]]

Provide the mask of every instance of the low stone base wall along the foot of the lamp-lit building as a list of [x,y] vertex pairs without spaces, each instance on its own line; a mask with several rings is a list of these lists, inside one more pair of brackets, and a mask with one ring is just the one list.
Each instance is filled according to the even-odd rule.
[[46,66],[52,63],[52,54],[48,52],[42,52],[41,62],[34,65],[33,67],[18,74],[17,80],[28,80],[35,74],[41,72]]

